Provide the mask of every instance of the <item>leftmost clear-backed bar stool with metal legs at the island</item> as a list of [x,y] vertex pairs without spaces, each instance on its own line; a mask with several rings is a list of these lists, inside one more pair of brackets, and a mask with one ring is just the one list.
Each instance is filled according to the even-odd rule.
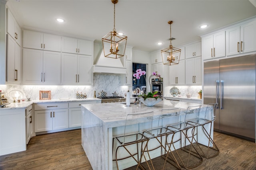
[[[117,169],[119,170],[118,167],[118,160],[124,160],[127,158],[133,158],[137,165],[136,170],[138,169],[138,167],[140,167],[141,169],[145,169],[142,165],[141,165],[141,161],[142,161],[142,157],[144,155],[144,152],[146,150],[146,146],[147,143],[149,141],[149,138],[146,137],[145,135],[143,135],[143,132],[129,132],[130,128],[129,125],[134,125],[137,123],[149,123],[150,127],[148,128],[149,130],[152,130],[152,120],[153,120],[153,115],[154,112],[146,112],[146,113],[134,113],[134,114],[128,114],[126,116],[126,123],[124,126],[124,134],[118,137],[113,137],[113,154],[115,153],[115,161],[116,161],[116,166]],[[136,123],[134,123],[136,122]],[[114,141],[117,142],[118,147],[116,147],[116,150],[114,150]],[[142,143],[146,143],[146,145],[144,147],[142,147]],[[140,144],[140,145],[139,145]],[[131,146],[134,147],[131,147]],[[120,148],[124,148],[124,150],[126,150],[126,152],[128,153],[127,156],[124,156],[122,158],[118,158],[118,149]],[[134,149],[136,148],[136,149]],[[124,154],[124,152],[122,152],[122,154]],[[137,156],[136,156],[137,155]],[[113,160],[113,161],[114,161]],[[152,162],[150,160],[150,162]],[[150,166],[148,164],[148,161],[146,160],[146,164],[148,165],[148,168],[150,169]]]

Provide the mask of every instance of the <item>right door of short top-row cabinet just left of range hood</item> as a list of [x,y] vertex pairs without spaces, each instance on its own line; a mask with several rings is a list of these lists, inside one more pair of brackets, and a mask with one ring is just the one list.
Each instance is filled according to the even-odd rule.
[[78,39],[78,54],[92,55],[93,42],[85,39]]

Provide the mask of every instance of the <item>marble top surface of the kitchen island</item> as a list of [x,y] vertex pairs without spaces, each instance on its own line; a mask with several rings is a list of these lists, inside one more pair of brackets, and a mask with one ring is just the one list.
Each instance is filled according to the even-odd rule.
[[[126,120],[126,115],[130,113],[145,113],[154,111],[154,115],[161,114],[161,109],[171,109],[174,107],[180,107],[181,111],[187,109],[188,106],[198,106],[199,104],[178,102],[177,104],[172,104],[170,100],[163,100],[155,106],[148,107],[144,104],[126,106],[121,103],[104,103],[104,104],[83,104],[82,107],[88,109],[91,113],[100,118],[108,127],[118,127],[120,123],[124,123]],[[202,105],[206,107],[207,105]]]

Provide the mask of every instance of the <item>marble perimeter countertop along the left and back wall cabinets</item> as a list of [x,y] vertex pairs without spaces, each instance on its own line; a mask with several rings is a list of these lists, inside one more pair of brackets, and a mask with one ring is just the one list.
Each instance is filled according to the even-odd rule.
[[56,99],[56,100],[32,100],[30,102],[15,102],[6,105],[6,107],[0,108],[1,110],[4,109],[22,109],[26,108],[34,103],[54,103],[54,102],[82,102],[82,101],[91,101],[91,100],[101,100],[99,98],[86,98],[86,99]]

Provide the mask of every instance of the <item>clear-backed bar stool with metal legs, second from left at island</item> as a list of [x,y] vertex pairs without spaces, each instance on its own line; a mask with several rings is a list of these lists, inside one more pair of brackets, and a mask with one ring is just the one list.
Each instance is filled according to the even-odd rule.
[[[148,153],[152,150],[156,150],[160,148],[162,158],[163,158],[163,150],[164,150],[164,152],[167,153],[166,157],[170,156],[171,160],[174,162],[174,164],[172,162],[170,162],[170,164],[172,164],[178,169],[181,169],[172,151],[168,152],[168,148],[166,147],[167,136],[175,133],[175,131],[171,131],[170,129],[168,129],[166,125],[170,124],[171,118],[173,118],[174,116],[178,116],[179,114],[180,114],[180,108],[162,109],[161,115],[159,115],[158,117],[158,126],[156,128],[153,128],[152,130],[144,131],[143,134],[150,139],[146,147],[146,151]],[[148,147],[150,143],[154,143],[153,148]],[[158,143],[158,145],[155,145],[156,143]],[[148,154],[148,156],[150,158],[150,153]],[[166,161],[164,161],[163,170],[164,170],[165,164],[166,164]],[[153,169],[154,169],[154,166],[153,166]]]

